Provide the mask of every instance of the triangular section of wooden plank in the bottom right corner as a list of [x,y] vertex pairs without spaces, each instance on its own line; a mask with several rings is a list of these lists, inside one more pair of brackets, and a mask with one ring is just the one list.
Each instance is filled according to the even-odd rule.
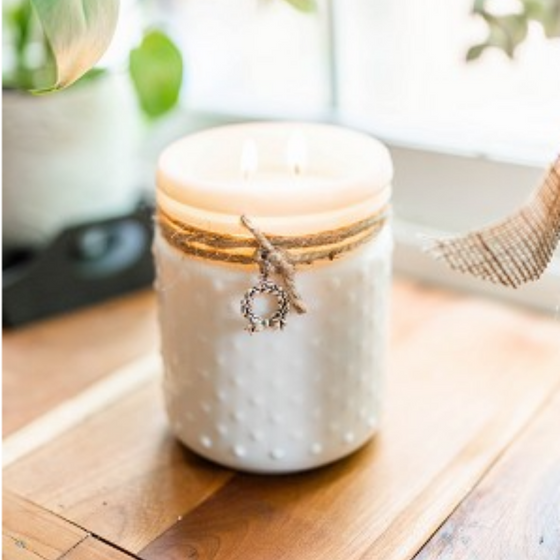
[[416,560],[560,558],[560,391]]

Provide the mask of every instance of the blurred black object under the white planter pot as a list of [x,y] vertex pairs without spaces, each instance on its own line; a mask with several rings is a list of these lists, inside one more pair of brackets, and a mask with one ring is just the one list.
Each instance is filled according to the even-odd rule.
[[150,285],[153,210],[64,230],[47,248],[4,248],[4,327],[50,315]]

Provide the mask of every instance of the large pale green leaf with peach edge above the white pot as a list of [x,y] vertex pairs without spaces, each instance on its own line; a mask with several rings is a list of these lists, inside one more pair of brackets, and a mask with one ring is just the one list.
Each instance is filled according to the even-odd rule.
[[107,50],[119,0],[31,0],[56,64],[56,81],[35,93],[63,89],[83,76]]

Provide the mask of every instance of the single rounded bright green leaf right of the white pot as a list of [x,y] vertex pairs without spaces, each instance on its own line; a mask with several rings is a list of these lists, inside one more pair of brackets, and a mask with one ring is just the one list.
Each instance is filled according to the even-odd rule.
[[167,35],[150,31],[130,53],[130,75],[144,112],[149,117],[159,117],[179,99],[183,80],[181,53]]

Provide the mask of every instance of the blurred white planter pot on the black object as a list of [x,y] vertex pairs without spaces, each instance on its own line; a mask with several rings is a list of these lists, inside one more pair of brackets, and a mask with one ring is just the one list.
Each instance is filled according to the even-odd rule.
[[38,247],[138,198],[136,101],[119,77],[53,95],[3,92],[4,243]]

